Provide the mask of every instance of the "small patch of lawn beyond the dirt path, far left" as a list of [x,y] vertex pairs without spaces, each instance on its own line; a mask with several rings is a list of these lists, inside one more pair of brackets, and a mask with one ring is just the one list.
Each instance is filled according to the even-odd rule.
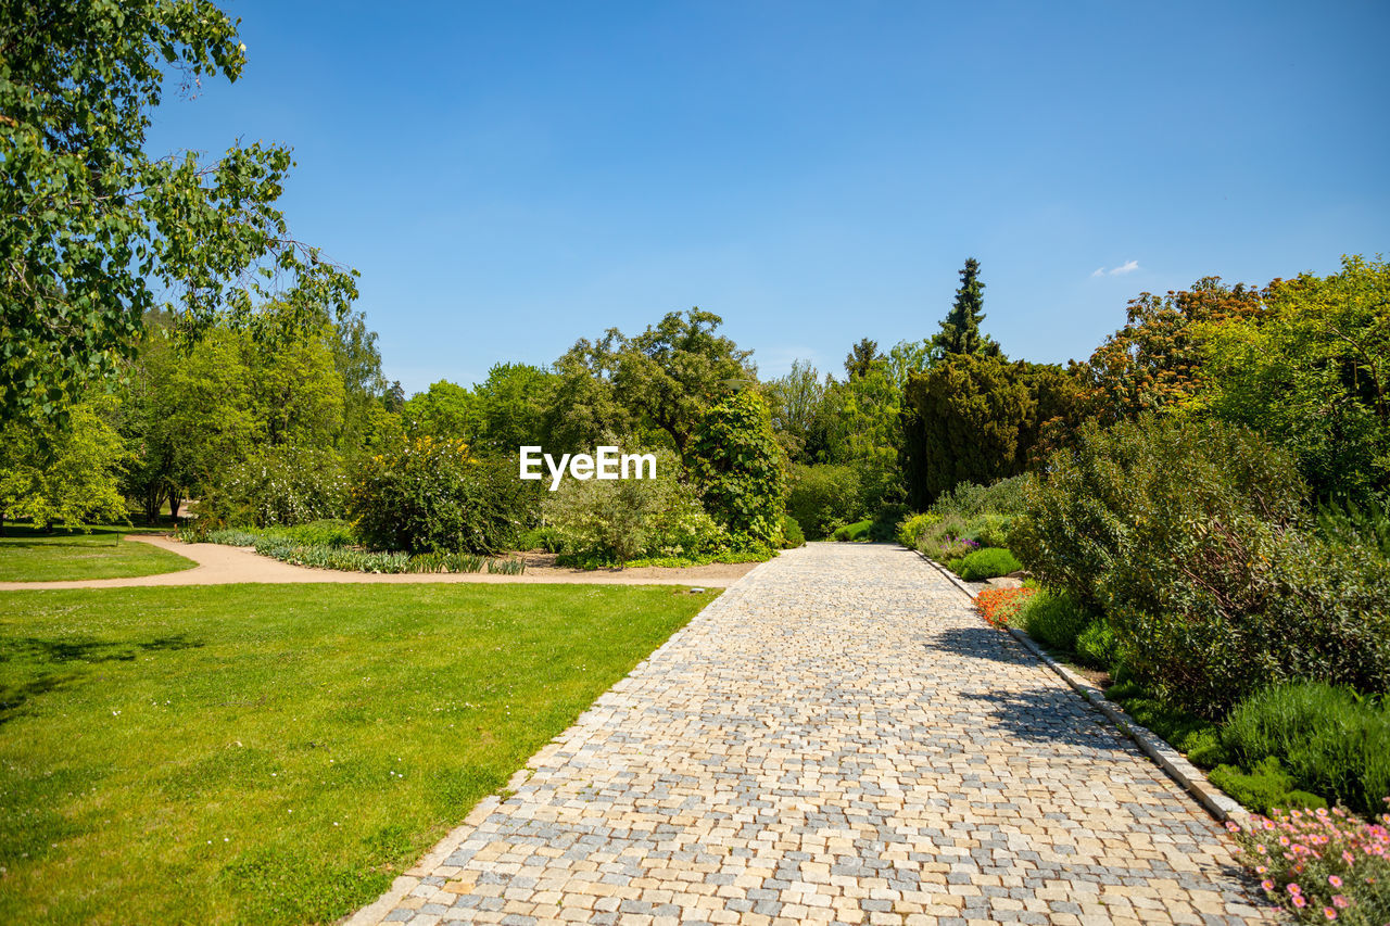
[[124,578],[192,569],[197,563],[167,549],[125,539],[143,533],[129,527],[93,527],[90,534],[6,524],[0,537],[0,581],[42,583],[76,578]]

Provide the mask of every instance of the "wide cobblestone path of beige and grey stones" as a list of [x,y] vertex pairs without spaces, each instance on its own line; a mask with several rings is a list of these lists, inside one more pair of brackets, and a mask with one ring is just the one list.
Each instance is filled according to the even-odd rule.
[[354,923],[1268,916],[1220,826],[899,548],[759,567],[531,767]]

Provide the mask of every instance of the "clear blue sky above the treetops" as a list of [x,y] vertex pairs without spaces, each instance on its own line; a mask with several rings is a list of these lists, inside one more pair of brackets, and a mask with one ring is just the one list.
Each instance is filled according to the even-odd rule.
[[1084,359],[1140,292],[1390,252],[1383,1],[220,6],[246,71],[149,147],[292,146],[407,393],[692,306],[842,374],[966,257],[1011,357]]

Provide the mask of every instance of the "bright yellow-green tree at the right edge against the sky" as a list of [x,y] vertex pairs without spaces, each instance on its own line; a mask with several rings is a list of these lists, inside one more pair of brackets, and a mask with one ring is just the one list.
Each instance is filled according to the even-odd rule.
[[1318,496],[1390,489],[1390,264],[1270,284],[1266,307],[1201,327],[1204,403],[1287,449]]

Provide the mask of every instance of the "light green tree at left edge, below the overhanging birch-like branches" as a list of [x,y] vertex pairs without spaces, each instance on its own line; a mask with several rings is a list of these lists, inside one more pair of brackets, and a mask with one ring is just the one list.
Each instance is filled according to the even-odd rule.
[[114,409],[111,396],[99,396],[64,409],[61,425],[18,417],[0,425],[0,534],[17,517],[36,527],[125,520]]

